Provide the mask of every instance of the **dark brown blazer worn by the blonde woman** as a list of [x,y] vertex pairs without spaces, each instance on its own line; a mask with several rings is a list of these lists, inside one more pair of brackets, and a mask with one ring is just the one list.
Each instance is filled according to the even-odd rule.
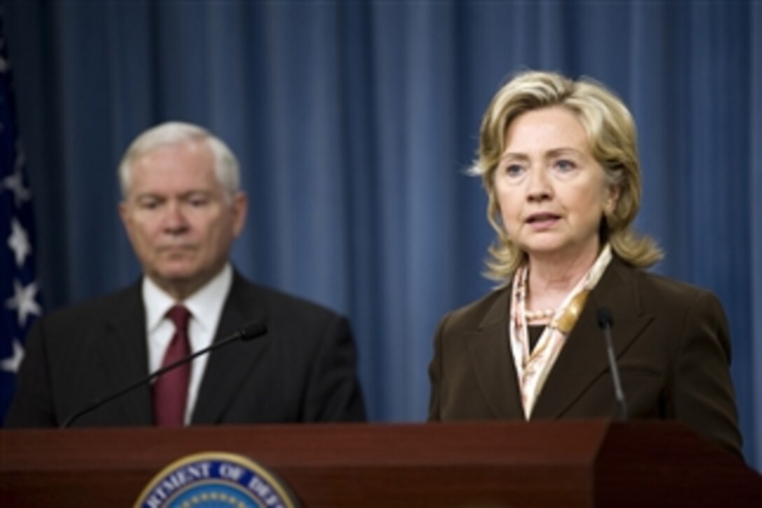
[[[511,288],[443,318],[429,366],[429,420],[523,420],[509,342]],[[613,315],[613,346],[632,419],[676,419],[741,455],[725,313],[708,291],[613,259],[567,338],[531,420],[617,415],[597,309]]]

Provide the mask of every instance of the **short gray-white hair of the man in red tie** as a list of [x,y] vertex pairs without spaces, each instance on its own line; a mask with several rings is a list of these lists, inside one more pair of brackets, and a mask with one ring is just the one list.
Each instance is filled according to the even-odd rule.
[[228,195],[235,195],[241,190],[241,172],[238,159],[235,158],[229,146],[203,127],[171,121],[143,131],[127,148],[119,163],[119,185],[122,198],[126,198],[130,191],[132,163],[136,159],[162,146],[197,142],[207,143],[214,157],[214,173],[217,180]]

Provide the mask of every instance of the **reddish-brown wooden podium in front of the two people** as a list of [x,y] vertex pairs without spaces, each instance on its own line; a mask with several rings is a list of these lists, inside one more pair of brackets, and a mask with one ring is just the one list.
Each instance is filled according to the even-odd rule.
[[678,423],[0,431],[2,506],[132,506],[172,461],[245,455],[304,506],[762,506],[762,477]]

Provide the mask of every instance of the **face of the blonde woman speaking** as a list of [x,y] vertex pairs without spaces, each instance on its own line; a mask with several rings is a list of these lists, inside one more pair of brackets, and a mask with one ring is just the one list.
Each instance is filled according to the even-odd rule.
[[616,188],[594,159],[588,135],[571,111],[544,108],[517,117],[495,171],[504,227],[531,259],[595,259],[601,216],[613,211]]

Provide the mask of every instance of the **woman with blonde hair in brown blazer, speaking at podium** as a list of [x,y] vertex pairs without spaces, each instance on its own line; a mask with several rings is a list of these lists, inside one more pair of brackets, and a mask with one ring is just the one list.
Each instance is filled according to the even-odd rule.
[[620,98],[591,79],[518,74],[484,114],[472,173],[498,288],[441,320],[429,420],[674,419],[740,456],[722,304],[643,269],[661,251],[632,229],[640,168]]

